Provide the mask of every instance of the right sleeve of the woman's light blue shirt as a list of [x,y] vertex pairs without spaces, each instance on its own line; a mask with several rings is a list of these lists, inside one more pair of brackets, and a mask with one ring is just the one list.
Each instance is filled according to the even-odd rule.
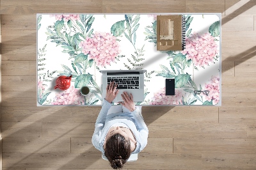
[[141,111],[139,107],[136,107],[134,111],[131,112],[132,116],[134,117],[136,121],[136,125],[138,127],[138,131],[140,132],[140,150],[143,150],[147,145],[147,139],[148,139],[148,128],[146,123],[144,122],[144,119],[142,117]]

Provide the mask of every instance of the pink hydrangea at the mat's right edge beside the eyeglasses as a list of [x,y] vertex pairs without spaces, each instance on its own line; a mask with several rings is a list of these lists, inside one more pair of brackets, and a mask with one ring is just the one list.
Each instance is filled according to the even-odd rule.
[[220,77],[212,76],[209,84],[205,83],[204,90],[209,90],[209,94],[204,95],[205,100],[209,102],[212,100],[212,104],[216,105],[220,102]]

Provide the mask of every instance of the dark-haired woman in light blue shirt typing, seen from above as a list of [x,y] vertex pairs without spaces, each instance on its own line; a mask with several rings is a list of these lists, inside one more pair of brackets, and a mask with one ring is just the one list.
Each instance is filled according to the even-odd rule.
[[[131,97],[124,92],[124,102],[121,111],[118,106],[111,107],[119,90],[117,84],[111,82],[107,86],[107,93],[102,100],[102,108],[95,123],[92,143],[97,150],[102,151],[114,169],[124,167],[132,153],[139,153],[147,145],[148,128],[139,107],[135,107]],[[110,109],[111,108],[111,109]],[[109,110],[110,109],[110,110]]]

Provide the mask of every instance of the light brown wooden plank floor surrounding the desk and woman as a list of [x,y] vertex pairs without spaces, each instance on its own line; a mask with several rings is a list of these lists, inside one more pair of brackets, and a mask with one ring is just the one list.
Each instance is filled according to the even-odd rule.
[[[110,169],[100,107],[36,107],[36,13],[222,13],[221,107],[143,107],[148,144],[124,169],[256,169],[255,0],[1,0],[3,169]],[[0,147],[1,148],[1,147]]]

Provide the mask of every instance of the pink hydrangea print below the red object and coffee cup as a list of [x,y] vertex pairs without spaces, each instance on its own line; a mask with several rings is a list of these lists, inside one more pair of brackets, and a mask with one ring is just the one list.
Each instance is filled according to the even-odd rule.
[[51,104],[53,105],[81,105],[84,103],[84,97],[79,89],[70,86],[67,90],[61,93],[55,93],[55,97]]

